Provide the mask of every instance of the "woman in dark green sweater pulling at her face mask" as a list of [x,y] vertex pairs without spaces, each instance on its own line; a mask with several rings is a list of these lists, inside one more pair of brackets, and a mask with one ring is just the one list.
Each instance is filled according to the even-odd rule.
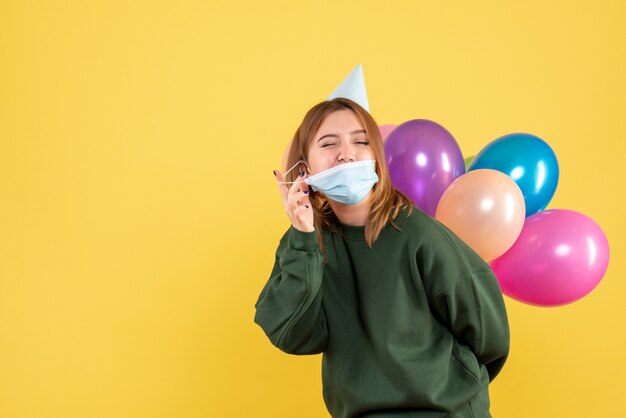
[[393,188],[374,119],[348,99],[319,103],[291,166],[274,172],[291,227],[255,322],[287,353],[323,353],[333,417],[489,417],[509,351],[498,282]]

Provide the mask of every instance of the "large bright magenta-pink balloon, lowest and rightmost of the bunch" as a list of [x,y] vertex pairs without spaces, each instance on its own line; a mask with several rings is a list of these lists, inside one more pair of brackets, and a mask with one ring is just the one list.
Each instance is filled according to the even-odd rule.
[[551,209],[528,218],[511,249],[491,263],[502,292],[537,306],[572,303],[591,292],[609,264],[609,243],[587,216]]

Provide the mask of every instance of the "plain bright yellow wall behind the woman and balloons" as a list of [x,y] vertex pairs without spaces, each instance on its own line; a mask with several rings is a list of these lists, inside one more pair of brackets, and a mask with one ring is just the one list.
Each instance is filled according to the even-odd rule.
[[271,171],[358,63],[380,124],[553,147],[549,207],[612,258],[577,303],[507,298],[492,413],[622,414],[623,1],[3,0],[0,417],[327,416],[320,357],[253,306],[288,226]]

